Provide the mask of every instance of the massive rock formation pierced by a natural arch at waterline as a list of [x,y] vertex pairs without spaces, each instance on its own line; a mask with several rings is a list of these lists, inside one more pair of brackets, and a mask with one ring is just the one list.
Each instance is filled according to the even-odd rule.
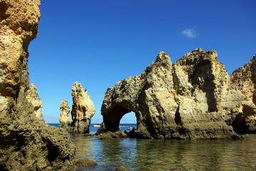
[[199,48],[173,64],[160,52],[140,76],[108,88],[97,134],[120,130],[123,115],[133,111],[139,138],[239,138],[225,121],[240,112],[243,95],[216,58],[216,51]]

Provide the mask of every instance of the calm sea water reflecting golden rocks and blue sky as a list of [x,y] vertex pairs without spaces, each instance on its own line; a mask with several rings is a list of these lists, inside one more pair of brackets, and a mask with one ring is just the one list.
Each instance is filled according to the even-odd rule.
[[[58,124],[49,124],[58,127]],[[100,124],[91,124],[96,133]],[[136,124],[120,124],[121,130]],[[97,166],[77,170],[256,170],[256,134],[243,140],[149,140],[70,134],[77,157],[96,161]]]

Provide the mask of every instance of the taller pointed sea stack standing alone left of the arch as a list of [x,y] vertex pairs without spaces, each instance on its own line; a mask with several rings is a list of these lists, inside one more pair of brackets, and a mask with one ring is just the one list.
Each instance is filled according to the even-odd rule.
[[81,83],[73,83],[71,95],[73,97],[72,105],[72,123],[71,132],[73,133],[89,133],[91,118],[96,110],[87,90],[84,90]]

